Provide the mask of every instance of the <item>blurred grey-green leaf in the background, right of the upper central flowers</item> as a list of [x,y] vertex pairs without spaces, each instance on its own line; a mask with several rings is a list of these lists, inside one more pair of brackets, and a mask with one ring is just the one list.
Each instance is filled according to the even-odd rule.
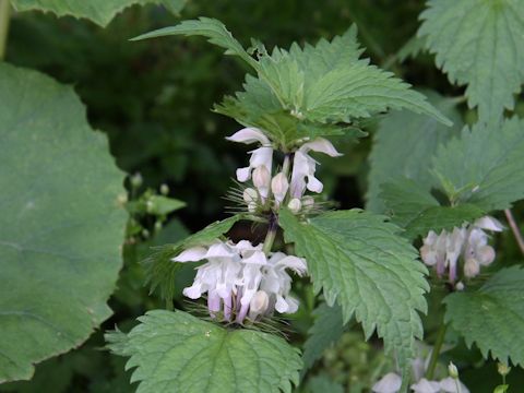
[[406,177],[425,188],[434,186],[436,180],[429,171],[429,157],[463,127],[455,100],[431,91],[425,94],[437,109],[453,121],[453,128],[407,110],[391,112],[381,120],[369,156],[371,169],[367,209],[374,213],[384,212],[383,201],[379,198],[380,186],[384,182]]

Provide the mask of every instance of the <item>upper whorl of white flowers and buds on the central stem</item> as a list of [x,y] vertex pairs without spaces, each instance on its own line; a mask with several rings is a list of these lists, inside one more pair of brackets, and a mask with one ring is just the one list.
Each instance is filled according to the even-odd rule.
[[309,190],[314,193],[322,192],[322,182],[314,177],[317,162],[309,155],[309,152],[326,154],[337,157],[341,154],[330,141],[317,138],[311,142],[302,143],[293,155],[293,169],[290,179],[288,177],[289,155],[286,155],[283,168],[272,177],[273,169],[273,146],[267,136],[254,128],[245,128],[236,132],[227,140],[239,143],[259,143],[260,147],[250,152],[249,166],[237,169],[237,180],[247,182],[252,179],[253,188],[243,191],[243,200],[250,212],[255,212],[259,206],[265,206],[270,196],[273,196],[273,207],[278,209],[281,204],[298,213],[301,210],[310,210],[314,200],[305,195]]

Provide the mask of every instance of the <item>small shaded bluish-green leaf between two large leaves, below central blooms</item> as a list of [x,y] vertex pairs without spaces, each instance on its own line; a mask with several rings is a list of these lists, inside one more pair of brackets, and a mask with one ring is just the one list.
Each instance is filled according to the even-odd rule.
[[330,307],[322,302],[314,309],[313,317],[313,325],[303,344],[302,372],[309,370],[322,357],[324,350],[336,343],[345,331],[342,308],[338,305]]

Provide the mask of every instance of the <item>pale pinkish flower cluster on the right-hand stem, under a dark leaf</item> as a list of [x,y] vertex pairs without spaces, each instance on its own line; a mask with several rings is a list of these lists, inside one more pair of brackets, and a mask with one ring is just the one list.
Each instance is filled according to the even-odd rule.
[[480,266],[487,266],[495,260],[495,249],[488,245],[485,230],[501,231],[503,226],[493,217],[485,216],[473,225],[442,230],[440,235],[429,231],[420,248],[420,257],[428,266],[433,266],[437,274],[444,275],[448,271],[450,283],[457,278],[457,263],[462,255],[464,276],[475,277]]

